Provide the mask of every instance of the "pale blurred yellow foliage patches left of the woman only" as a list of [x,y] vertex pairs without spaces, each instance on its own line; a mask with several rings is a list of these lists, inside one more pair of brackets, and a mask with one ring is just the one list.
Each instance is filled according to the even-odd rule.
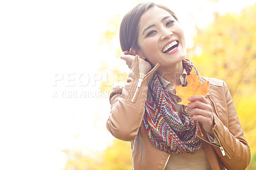
[[[116,15],[108,22],[108,29],[100,37],[99,43],[106,45],[108,49],[114,52],[113,58],[115,63],[111,62],[112,58],[109,58],[108,62],[102,62],[99,72],[106,73],[107,76],[101,81],[100,91],[111,93],[115,83],[124,84],[126,82],[127,72],[124,72],[124,68],[128,68],[125,62],[120,58],[121,49],[115,42],[119,43],[119,26],[121,23],[120,16]],[[110,66],[109,66],[110,65]],[[123,71],[122,71],[123,70]],[[127,141],[120,141],[114,139],[106,150],[101,152],[91,152],[83,154],[82,150],[67,149],[64,150],[68,156],[65,170],[127,170],[132,168],[131,160],[131,145]]]

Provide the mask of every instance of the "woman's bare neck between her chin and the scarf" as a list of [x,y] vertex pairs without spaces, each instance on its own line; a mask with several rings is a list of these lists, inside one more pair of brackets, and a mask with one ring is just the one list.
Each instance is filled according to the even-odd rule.
[[183,72],[182,61],[173,66],[168,66],[164,68],[159,67],[157,72],[159,73],[159,75],[164,77],[166,81],[172,83],[174,82],[176,85],[180,85],[180,75]]

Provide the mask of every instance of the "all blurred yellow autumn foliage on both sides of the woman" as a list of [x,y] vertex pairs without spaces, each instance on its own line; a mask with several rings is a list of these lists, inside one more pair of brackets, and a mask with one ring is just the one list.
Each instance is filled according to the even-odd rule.
[[[215,0],[214,0],[215,1]],[[118,34],[116,17],[102,36],[106,42]],[[256,169],[256,4],[241,13],[216,15],[207,29],[197,30],[193,48],[188,49],[188,58],[195,63],[200,75],[223,79],[227,82],[244,135],[251,149],[251,162],[247,169]],[[120,56],[120,49],[116,50]],[[114,57],[114,56],[113,56]],[[113,84],[125,80],[127,73],[102,63],[100,72],[108,71],[101,91],[112,91]],[[84,156],[79,151],[68,157],[65,169],[131,169],[131,148],[129,142],[115,139],[113,144],[95,157]],[[75,155],[75,156],[74,156]]]

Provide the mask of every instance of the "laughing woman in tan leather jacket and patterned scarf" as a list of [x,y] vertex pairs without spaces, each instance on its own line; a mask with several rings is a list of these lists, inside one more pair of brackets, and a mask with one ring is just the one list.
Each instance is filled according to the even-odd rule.
[[[121,58],[131,68],[124,88],[113,89],[107,128],[131,141],[133,169],[245,169],[250,148],[225,82],[209,81],[206,97],[178,104],[175,84],[186,86],[193,63],[175,14],[138,4],[120,26]],[[198,75],[197,70],[195,69]]]

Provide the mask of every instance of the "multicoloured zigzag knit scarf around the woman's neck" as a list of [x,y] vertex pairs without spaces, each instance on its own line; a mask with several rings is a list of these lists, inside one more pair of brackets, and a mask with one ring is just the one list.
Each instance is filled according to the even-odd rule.
[[[184,59],[182,64],[189,74],[193,63]],[[195,72],[198,75],[196,68]],[[147,134],[154,146],[167,153],[196,153],[200,149],[201,141],[196,137],[197,122],[189,118],[185,109],[186,106],[182,105],[179,118],[175,103],[155,72],[148,83],[143,116]]]

